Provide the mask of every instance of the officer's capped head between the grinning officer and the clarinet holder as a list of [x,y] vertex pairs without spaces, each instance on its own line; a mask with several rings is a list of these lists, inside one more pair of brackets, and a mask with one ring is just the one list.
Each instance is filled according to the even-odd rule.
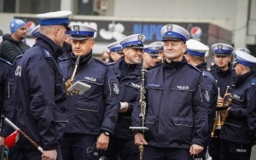
[[159,45],[148,45],[143,49],[143,66],[145,69],[155,66],[157,62]]

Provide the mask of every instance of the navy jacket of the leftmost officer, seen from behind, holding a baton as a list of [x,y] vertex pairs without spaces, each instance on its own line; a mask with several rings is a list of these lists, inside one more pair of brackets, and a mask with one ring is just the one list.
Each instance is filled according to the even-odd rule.
[[[65,85],[55,58],[61,53],[60,46],[39,34],[36,45],[15,66],[11,121],[45,151],[58,146],[67,123],[63,104]],[[22,136],[16,146],[34,149]]]

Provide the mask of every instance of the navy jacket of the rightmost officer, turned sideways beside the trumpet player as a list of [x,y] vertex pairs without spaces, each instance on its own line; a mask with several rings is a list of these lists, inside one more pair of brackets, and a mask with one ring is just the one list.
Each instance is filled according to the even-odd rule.
[[233,100],[229,116],[220,130],[220,139],[238,144],[253,143],[256,131],[256,86],[254,71],[238,77],[229,90]]

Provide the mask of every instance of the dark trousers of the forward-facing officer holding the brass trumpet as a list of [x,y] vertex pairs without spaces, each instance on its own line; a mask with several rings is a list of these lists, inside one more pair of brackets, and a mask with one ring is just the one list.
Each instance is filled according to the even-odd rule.
[[208,151],[212,160],[219,160],[220,158],[220,139],[211,138],[208,146]]

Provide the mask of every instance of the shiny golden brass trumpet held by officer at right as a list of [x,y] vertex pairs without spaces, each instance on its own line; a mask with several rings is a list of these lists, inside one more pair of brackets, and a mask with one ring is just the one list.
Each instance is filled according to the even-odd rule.
[[[216,129],[221,129],[221,127],[224,125],[226,116],[221,117],[221,111],[228,109],[232,102],[232,95],[228,93],[230,86],[227,86],[227,89],[224,94],[224,100],[221,103],[217,103],[217,116],[214,119],[213,128],[212,128],[212,135],[211,137],[216,138]],[[219,88],[218,88],[218,96],[219,96]]]

